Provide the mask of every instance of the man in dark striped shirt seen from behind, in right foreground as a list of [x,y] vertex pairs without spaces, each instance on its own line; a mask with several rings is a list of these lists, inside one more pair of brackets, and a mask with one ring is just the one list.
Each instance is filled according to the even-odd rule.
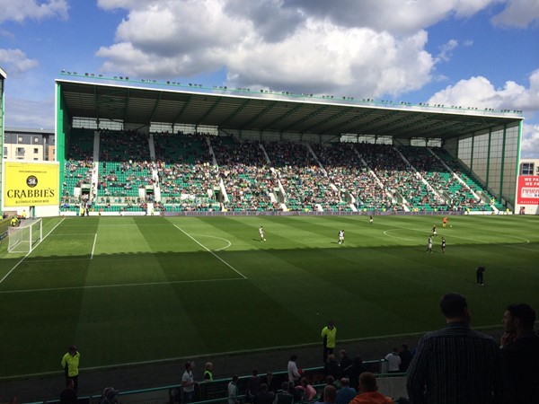
[[446,328],[420,340],[406,383],[413,404],[478,404],[503,401],[502,361],[494,339],[470,329],[461,294],[440,301]]

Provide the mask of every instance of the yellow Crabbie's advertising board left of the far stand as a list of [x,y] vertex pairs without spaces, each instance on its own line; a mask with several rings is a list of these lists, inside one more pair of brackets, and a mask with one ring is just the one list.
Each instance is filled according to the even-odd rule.
[[57,205],[58,176],[57,162],[4,161],[4,206]]

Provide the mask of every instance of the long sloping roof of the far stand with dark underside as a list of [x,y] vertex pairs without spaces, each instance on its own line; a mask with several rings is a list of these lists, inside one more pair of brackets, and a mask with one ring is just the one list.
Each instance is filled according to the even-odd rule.
[[226,87],[211,89],[199,84],[96,81],[97,78],[90,83],[56,80],[70,117],[112,119],[141,126],[161,122],[261,132],[401,139],[472,135],[503,125],[518,125],[523,119],[521,111],[397,104]]

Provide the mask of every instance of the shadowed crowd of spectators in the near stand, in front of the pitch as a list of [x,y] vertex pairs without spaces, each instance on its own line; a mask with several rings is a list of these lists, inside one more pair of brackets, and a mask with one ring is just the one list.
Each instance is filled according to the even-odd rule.
[[[539,332],[535,330],[535,310],[527,303],[508,304],[502,312],[503,333],[499,343],[471,328],[471,314],[462,294],[444,294],[439,310],[445,318],[442,329],[426,333],[410,350],[402,344],[385,356],[387,370],[367,367],[359,356],[353,359],[341,349],[339,359],[331,352],[323,368],[304,372],[300,358],[289,356],[287,372],[275,377],[257,369],[249,377],[234,374],[228,383],[229,404],[294,404],[316,402],[327,404],[392,403],[399,404],[536,404],[539,402]],[[332,324],[332,321],[331,321]],[[66,389],[60,403],[77,402],[79,362],[75,346],[62,356]],[[376,361],[379,366],[383,361]],[[215,365],[207,362],[200,383],[218,382]],[[372,372],[372,373],[371,373]],[[193,362],[184,365],[179,399],[181,404],[200,400],[200,384]],[[376,375],[406,377],[406,394],[388,398],[378,392]],[[393,374],[392,374],[393,373]],[[84,383],[84,375],[83,382]],[[221,381],[222,382],[222,381]],[[215,390],[214,390],[215,392]],[[109,394],[110,393],[110,394]],[[116,400],[119,391],[106,388],[100,403]],[[12,402],[17,402],[13,398]],[[177,400],[172,400],[177,402]]]

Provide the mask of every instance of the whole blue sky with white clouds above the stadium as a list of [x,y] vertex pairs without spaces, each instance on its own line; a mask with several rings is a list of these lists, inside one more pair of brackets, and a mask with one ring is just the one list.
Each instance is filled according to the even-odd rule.
[[539,0],[0,0],[6,127],[54,127],[62,69],[524,110],[539,158]]

